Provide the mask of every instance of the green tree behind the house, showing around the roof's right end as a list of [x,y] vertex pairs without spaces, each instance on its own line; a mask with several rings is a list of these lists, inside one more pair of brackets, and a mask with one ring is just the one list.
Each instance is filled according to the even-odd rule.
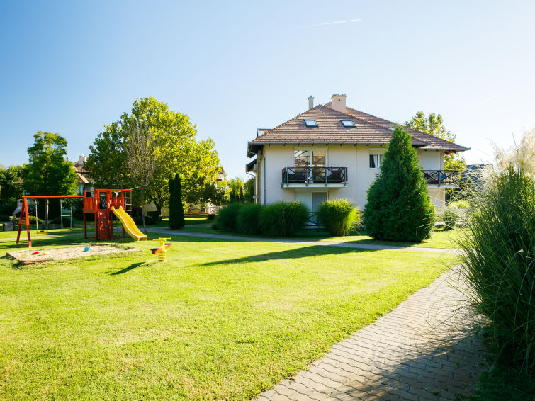
[[[405,127],[425,132],[441,140],[455,142],[456,135],[451,131],[446,131],[444,120],[440,114],[429,113],[426,117],[423,111],[417,111],[410,120],[405,121]],[[464,157],[456,153],[446,154],[444,156],[444,169],[464,171],[466,169]]]

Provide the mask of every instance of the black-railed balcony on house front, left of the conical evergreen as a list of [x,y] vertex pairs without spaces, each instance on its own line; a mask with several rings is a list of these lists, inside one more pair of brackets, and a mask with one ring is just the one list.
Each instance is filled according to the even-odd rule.
[[282,169],[282,188],[347,185],[347,167],[285,167]]

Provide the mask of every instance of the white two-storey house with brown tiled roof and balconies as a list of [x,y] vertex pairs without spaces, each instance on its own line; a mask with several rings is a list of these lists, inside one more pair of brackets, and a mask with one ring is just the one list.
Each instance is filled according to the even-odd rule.
[[[395,123],[346,106],[336,94],[324,106],[272,129],[259,129],[247,144],[247,172],[256,176],[258,203],[300,200],[313,211],[324,200],[347,198],[364,209],[366,193],[376,174]],[[469,148],[407,129],[437,208],[445,206],[445,189],[458,183],[458,171],[444,170],[444,154]]]

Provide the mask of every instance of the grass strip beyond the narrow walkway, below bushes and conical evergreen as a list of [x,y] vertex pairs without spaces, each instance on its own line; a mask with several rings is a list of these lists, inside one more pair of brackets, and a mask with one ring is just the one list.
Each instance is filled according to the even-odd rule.
[[[261,237],[259,235],[242,235],[236,232],[227,230],[213,230],[212,227],[187,227],[184,231],[201,232],[205,234],[223,234],[235,235],[244,237]],[[355,244],[380,244],[400,247],[424,247],[424,248],[455,248],[456,241],[461,239],[465,231],[463,229],[456,230],[434,230],[432,237],[423,242],[395,242],[395,241],[378,241],[366,235],[365,231],[354,231],[351,235],[346,237],[330,237],[327,232],[322,231],[306,231],[301,230],[295,237],[288,237],[289,239],[300,239],[303,241],[323,241],[323,242],[353,242]]]

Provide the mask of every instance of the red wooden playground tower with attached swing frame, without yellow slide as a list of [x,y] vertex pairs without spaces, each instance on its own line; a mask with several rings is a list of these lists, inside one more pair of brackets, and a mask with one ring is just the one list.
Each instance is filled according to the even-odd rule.
[[[128,194],[128,196],[126,196]],[[125,214],[125,210],[130,210],[132,206],[132,190],[131,189],[94,189],[91,191],[84,191],[84,196],[80,195],[25,195],[23,198],[23,207],[21,216],[18,219],[17,244],[21,239],[22,226],[26,225],[26,233],[28,235],[28,247],[32,246],[30,236],[30,216],[28,213],[28,199],[74,199],[80,198],[83,200],[84,213],[84,239],[94,239],[96,241],[107,241],[114,238],[125,238],[125,224],[123,224],[123,234],[113,235],[113,208],[120,210]],[[118,212],[115,212],[118,215]],[[94,215],[94,237],[87,236],[87,215]],[[119,217],[119,216],[118,216]],[[72,220],[72,213],[71,213]],[[130,219],[131,220],[131,219]],[[127,227],[128,230],[128,227]],[[130,232],[129,232],[130,234]],[[145,237],[146,239],[146,237]]]

